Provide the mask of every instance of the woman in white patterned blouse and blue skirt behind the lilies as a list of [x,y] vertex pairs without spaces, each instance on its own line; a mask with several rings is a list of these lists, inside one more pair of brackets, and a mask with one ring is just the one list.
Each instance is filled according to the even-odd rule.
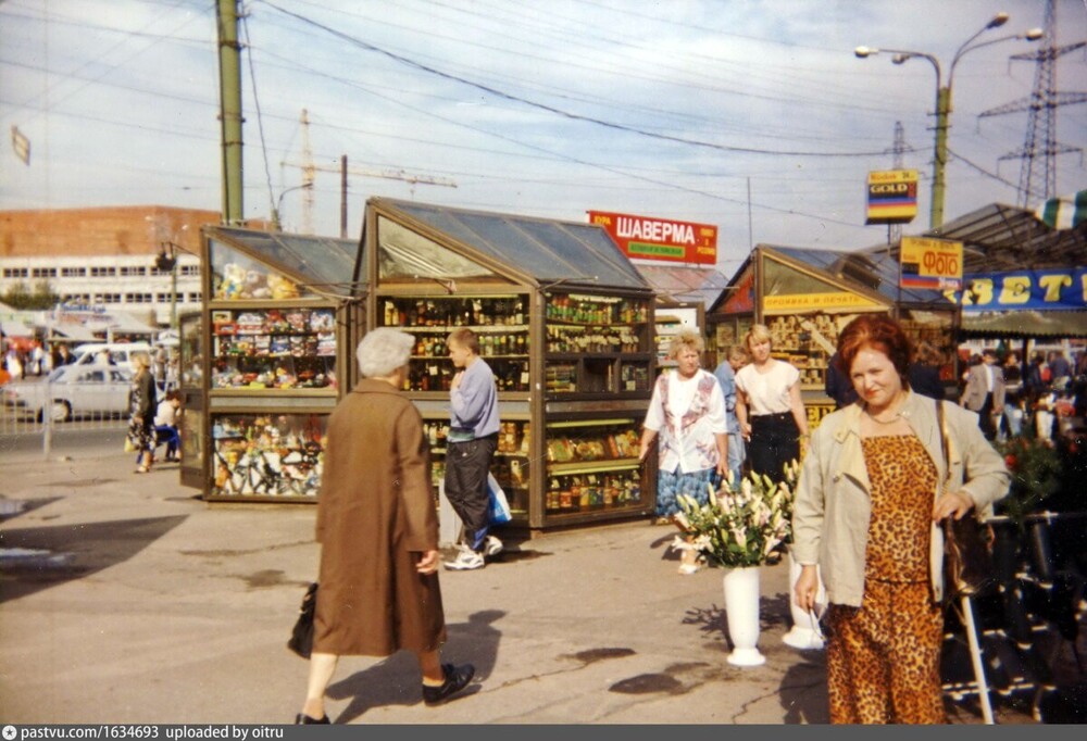
[[[702,338],[684,330],[669,346],[676,367],[662,373],[653,386],[646,413],[639,457],[646,459],[658,438],[657,516],[671,519],[679,512],[678,494],[709,500],[728,468],[728,426],[725,397],[716,377],[699,367]],[[680,574],[698,570],[695,551],[683,551]]]

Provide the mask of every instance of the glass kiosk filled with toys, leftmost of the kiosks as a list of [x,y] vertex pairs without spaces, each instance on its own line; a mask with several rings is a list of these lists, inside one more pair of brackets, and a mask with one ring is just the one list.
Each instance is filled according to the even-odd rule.
[[183,454],[186,438],[201,440],[205,500],[314,502],[328,415],[353,385],[341,379],[354,379],[364,329],[360,287],[343,281],[359,244],[233,227],[205,236],[209,298],[182,332],[183,378],[200,399],[197,414],[186,409]]

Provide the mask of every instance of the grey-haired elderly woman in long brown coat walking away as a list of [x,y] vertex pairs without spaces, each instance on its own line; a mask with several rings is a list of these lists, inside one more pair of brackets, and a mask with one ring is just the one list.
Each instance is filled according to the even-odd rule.
[[441,664],[438,519],[423,419],[399,389],[414,338],[379,328],[359,343],[363,380],[333,411],[321,492],[321,572],[305,705],[326,724],[325,690],[343,655],[415,653],[423,700],[443,702],[475,674]]

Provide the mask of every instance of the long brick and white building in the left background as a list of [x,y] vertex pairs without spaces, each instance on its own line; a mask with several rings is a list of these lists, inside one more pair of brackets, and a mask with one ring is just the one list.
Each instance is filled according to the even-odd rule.
[[200,228],[220,221],[217,211],[161,205],[0,211],[0,294],[47,281],[68,306],[167,326],[174,276],[155,259],[176,246],[176,311],[198,310]]

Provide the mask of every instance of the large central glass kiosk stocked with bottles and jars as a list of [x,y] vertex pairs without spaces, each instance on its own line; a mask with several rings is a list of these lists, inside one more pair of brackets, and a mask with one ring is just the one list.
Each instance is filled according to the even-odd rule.
[[599,226],[390,199],[366,204],[367,327],[417,338],[408,392],[440,483],[453,367],[467,326],[499,385],[492,473],[515,526],[546,529],[649,513],[638,461],[654,374],[653,292]]

